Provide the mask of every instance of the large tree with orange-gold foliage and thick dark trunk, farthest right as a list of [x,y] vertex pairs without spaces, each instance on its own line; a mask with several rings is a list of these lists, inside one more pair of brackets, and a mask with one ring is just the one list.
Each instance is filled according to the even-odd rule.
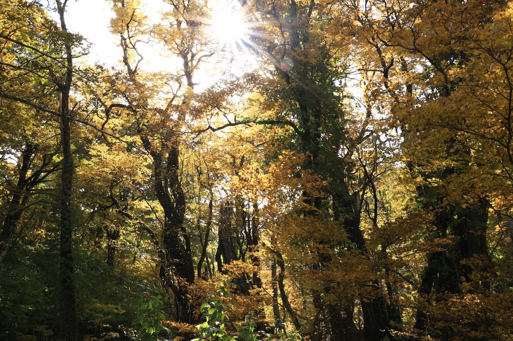
[[[349,8],[357,13],[358,7]],[[387,98],[383,102],[397,119],[390,124],[404,136],[405,166],[416,179],[419,205],[435,214],[436,231],[430,238],[453,236],[452,243],[427,255],[419,289],[430,297],[427,302],[431,295],[461,293],[463,282],[476,270],[469,259],[489,260],[487,224],[494,182],[488,176],[496,166],[480,159],[480,150],[486,147],[476,136],[453,129],[449,122],[455,122],[453,115],[463,122],[481,116],[463,113],[460,108],[469,108],[469,98],[454,94],[467,88],[468,65],[479,60],[473,58],[470,42],[482,39],[481,45],[490,39],[487,34],[476,35],[474,28],[484,33],[481,27],[496,21],[492,17],[502,8],[503,4],[484,2],[368,3],[353,21],[357,27],[348,25],[359,35],[361,51],[374,54],[362,62],[363,70],[378,81],[369,87]],[[437,121],[440,117],[444,118]],[[486,290],[488,283],[482,285]],[[423,332],[428,329],[425,302],[419,302],[415,325]],[[447,335],[447,330],[435,333]]]

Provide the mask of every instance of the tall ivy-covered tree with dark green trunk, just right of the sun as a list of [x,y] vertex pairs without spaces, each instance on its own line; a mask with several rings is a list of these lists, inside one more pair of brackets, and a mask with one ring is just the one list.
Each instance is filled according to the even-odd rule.
[[[344,33],[337,29],[340,12],[328,4],[293,1],[257,3],[253,10],[264,18],[265,28],[273,30],[273,39],[257,40],[255,44],[270,52],[265,57],[274,64],[272,77],[276,81],[267,83],[267,86],[275,88],[275,97],[268,101],[280,103],[275,109],[277,114],[270,119],[261,119],[260,123],[292,128],[295,136],[291,138],[297,141],[298,151],[307,155],[300,176],[311,172],[319,177],[322,184],[310,191],[303,191],[303,207],[298,213],[308,218],[305,222],[311,219],[324,222],[328,229],[333,229],[328,234],[341,236],[339,240],[328,241],[326,237],[316,240],[331,251],[317,251],[318,261],[315,263],[318,265],[314,269],[322,272],[325,267],[330,267],[333,259],[338,258],[333,251],[347,245],[344,240],[346,236],[352,251],[360,253],[361,261],[366,263],[368,258],[361,227],[360,196],[370,188],[372,177],[364,177],[363,183],[354,186],[356,163],[351,159],[357,147],[373,133],[369,129],[372,112],[368,111],[358,132],[351,135],[344,107],[345,96],[341,90],[347,77],[344,58],[349,51],[344,50]],[[295,149],[292,144],[283,147]],[[376,292],[361,300],[364,333],[367,339],[381,339],[384,336],[382,330],[388,328],[385,317],[388,308],[385,308],[379,284],[372,279],[367,280]],[[356,329],[350,317],[352,302],[351,299],[345,303],[341,300],[329,302],[321,298],[321,292],[333,290],[337,289],[326,284],[312,299],[319,311],[325,311],[325,323],[329,326],[325,332],[344,338]],[[312,337],[323,338],[323,333],[313,331]]]

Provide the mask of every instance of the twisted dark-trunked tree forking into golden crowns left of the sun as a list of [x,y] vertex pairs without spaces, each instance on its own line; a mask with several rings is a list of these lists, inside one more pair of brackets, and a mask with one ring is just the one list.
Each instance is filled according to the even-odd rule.
[[[187,286],[194,282],[195,271],[190,231],[185,226],[187,203],[181,183],[180,159],[183,142],[177,132],[186,124],[190,95],[194,88],[194,71],[202,59],[212,52],[208,47],[209,42],[202,36],[203,24],[195,19],[206,14],[205,5],[192,2],[168,4],[171,11],[164,15],[169,26],[157,27],[156,37],[172,54],[181,58],[182,65],[177,74],[168,76],[173,83],[170,85],[171,92],[163,99],[165,108],[152,103],[157,99],[148,97],[149,92],[145,93],[147,85],[138,75],[142,55],[137,50],[137,44],[141,43],[142,36],[137,35],[145,33],[144,17],[138,2],[114,2],[117,16],[112,22],[112,30],[121,37],[126,82],[133,91],[123,93],[123,89],[120,89],[120,94],[129,101],[128,109],[141,114],[136,132],[141,138],[142,147],[151,157],[152,187],[164,211],[162,245],[158,246],[163,251],[160,276],[172,289],[179,304],[177,319],[190,322],[193,317]],[[156,89],[153,91],[157,93]],[[143,124],[143,117],[147,124]]]

